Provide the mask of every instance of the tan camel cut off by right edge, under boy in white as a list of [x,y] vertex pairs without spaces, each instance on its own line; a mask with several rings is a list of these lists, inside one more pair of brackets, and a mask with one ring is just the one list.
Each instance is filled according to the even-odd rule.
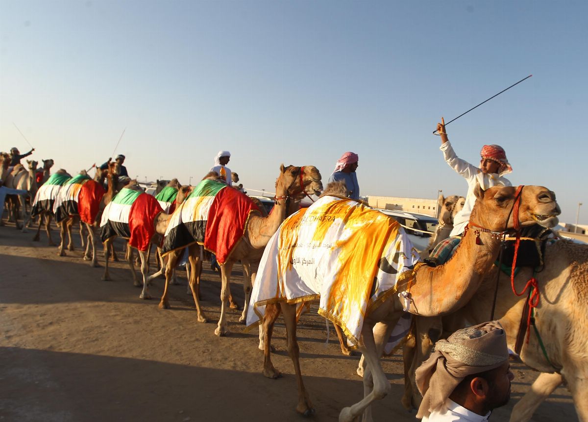
[[[484,277],[483,283],[469,301],[456,313],[437,319],[419,321],[419,333],[436,330],[442,338],[464,326],[470,326],[490,318],[497,282],[496,266]],[[510,274],[500,271],[498,279],[495,318],[500,321],[507,335],[511,350],[516,350],[520,322],[529,312],[526,284],[536,280],[539,289],[537,307],[533,312],[534,327],[529,327],[527,340],[522,341],[520,359],[527,366],[540,371],[529,392],[513,408],[510,421],[526,422],[534,411],[560,384],[566,383],[572,392],[574,405],[581,421],[588,421],[588,245],[569,240],[548,241],[543,255],[543,266],[537,272],[533,267],[520,267],[514,279],[517,293],[512,291]],[[532,287],[531,287],[532,288]],[[426,359],[432,349],[432,341],[419,336],[425,344],[418,361]],[[542,350],[543,343],[545,351]],[[413,379],[413,373],[410,374]],[[413,381],[413,380],[411,380]],[[409,389],[414,386],[411,383]],[[410,394],[410,391],[407,393]],[[419,396],[420,398],[420,396]],[[415,403],[416,405],[417,403]]]

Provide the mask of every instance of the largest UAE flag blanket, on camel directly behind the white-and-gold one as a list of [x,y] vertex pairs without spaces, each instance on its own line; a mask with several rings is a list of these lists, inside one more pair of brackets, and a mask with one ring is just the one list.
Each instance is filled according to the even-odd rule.
[[222,182],[202,180],[173,212],[162,253],[199,243],[224,264],[253,211],[259,208],[244,193]]

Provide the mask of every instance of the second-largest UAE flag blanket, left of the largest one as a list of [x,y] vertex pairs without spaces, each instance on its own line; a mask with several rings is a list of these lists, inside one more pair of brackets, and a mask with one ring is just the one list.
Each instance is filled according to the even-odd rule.
[[113,236],[121,236],[129,239],[129,245],[145,252],[155,234],[153,222],[161,212],[163,209],[155,197],[123,187],[102,213],[102,242]]

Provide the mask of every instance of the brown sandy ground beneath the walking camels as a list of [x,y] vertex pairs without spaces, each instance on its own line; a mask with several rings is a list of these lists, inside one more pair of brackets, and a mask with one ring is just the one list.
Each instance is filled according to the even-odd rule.
[[[53,236],[58,239],[56,230]],[[77,250],[66,257],[46,246],[44,233],[41,242],[32,237],[14,225],[0,227],[0,420],[303,420],[294,410],[296,383],[283,324],[273,336],[273,360],[284,376],[269,380],[261,374],[257,333],[245,333],[240,312],[229,313],[229,337],[213,333],[220,280],[208,265],[201,292],[209,323],[201,324],[186,295],[185,272],[179,272],[182,284],[171,286],[172,309],[159,310],[158,299],[139,299],[126,263],[112,265],[114,281],[101,281],[103,268],[81,259],[78,235]],[[232,292],[242,304],[239,267],[233,275]],[[163,280],[156,280],[153,297],[161,297],[162,287]],[[362,397],[358,358],[340,354],[333,331],[335,341],[325,344],[325,320],[316,314],[302,317],[298,336],[316,407],[311,420],[336,421],[342,407]],[[512,366],[512,399],[493,421],[508,420],[537,376],[523,364]],[[375,420],[416,420],[400,405],[400,355],[384,359],[383,367],[392,390],[374,404]],[[558,388],[533,420],[577,420],[567,388]]]

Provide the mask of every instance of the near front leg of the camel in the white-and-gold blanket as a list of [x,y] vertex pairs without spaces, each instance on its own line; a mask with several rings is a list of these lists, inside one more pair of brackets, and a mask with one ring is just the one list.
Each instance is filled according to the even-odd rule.
[[[393,324],[390,325],[393,328]],[[384,331],[389,332],[389,328]],[[366,323],[366,321],[364,321],[362,327],[362,340],[358,348],[362,352],[366,362],[366,371],[363,375],[364,397],[358,403],[353,404],[353,406],[343,408],[339,414],[339,422],[352,422],[366,410],[363,421],[367,422],[371,420],[371,414],[368,410],[369,406],[375,400],[382,400],[390,391],[390,383],[386,379],[386,374],[380,365],[380,356],[382,355],[386,340],[380,340],[379,343],[381,343],[381,346],[376,347],[372,326]],[[378,351],[377,349],[380,347],[382,350]],[[369,394],[365,394],[368,391]]]

